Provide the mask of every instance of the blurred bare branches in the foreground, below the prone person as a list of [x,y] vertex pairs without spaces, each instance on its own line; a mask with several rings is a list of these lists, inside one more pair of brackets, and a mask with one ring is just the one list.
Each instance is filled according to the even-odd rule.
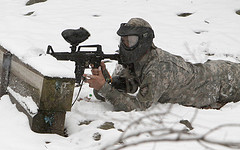
[[[145,143],[189,142],[189,141],[196,141],[201,146],[209,150],[216,150],[213,148],[214,145],[226,147],[229,149],[240,149],[240,141],[230,142],[230,141],[223,141],[217,138],[215,139],[209,138],[209,135],[214,133],[215,131],[219,131],[224,127],[240,128],[240,124],[223,124],[208,130],[204,134],[194,134],[184,129],[180,130],[180,129],[174,129],[173,127],[171,128],[166,127],[163,125],[165,123],[163,121],[163,123],[161,124],[161,126],[159,126],[159,128],[140,130],[139,132],[126,135],[126,131],[130,130],[131,127],[134,126],[136,128],[139,125],[142,125],[142,121],[144,119],[150,119],[151,117],[154,117],[154,116],[167,115],[169,113],[170,113],[170,110],[162,113],[153,113],[153,114],[148,114],[140,117],[139,119],[133,121],[131,124],[127,126],[127,129],[125,130],[125,132],[119,137],[119,139],[116,142],[106,146],[105,148],[103,148],[103,150],[120,150],[126,147],[136,146],[136,145],[145,144]],[[196,118],[196,114],[197,114],[197,111],[195,111],[191,121],[193,121]],[[143,135],[145,135],[145,137]],[[150,135],[150,136],[146,136],[146,135]],[[140,136],[141,138],[138,138]],[[129,141],[132,141],[132,142],[129,142]],[[122,144],[120,145],[119,143],[122,143]]]

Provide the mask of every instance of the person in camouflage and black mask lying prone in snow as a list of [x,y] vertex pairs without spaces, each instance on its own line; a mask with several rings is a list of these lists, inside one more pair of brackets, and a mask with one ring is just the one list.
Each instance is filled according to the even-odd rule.
[[145,110],[158,102],[220,109],[240,100],[240,64],[186,62],[157,48],[150,24],[141,18],[121,24],[117,34],[121,69],[110,79],[101,63],[101,70],[93,69],[86,81],[96,97],[111,102],[115,110]]

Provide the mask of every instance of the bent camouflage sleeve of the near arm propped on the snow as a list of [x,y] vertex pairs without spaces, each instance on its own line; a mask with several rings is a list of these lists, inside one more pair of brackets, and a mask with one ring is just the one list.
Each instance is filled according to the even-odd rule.
[[120,92],[110,84],[105,85],[99,90],[99,93],[113,104],[117,111],[145,110],[156,100],[159,92],[153,92],[156,87],[155,73],[149,72],[145,75],[142,84],[135,95],[126,92]]

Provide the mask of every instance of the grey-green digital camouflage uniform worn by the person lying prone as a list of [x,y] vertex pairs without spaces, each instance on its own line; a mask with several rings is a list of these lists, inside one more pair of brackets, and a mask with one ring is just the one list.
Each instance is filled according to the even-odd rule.
[[108,83],[98,91],[116,110],[145,110],[158,102],[220,108],[240,100],[238,63],[217,60],[191,64],[182,57],[152,48],[130,68],[116,73],[126,77],[127,91]]

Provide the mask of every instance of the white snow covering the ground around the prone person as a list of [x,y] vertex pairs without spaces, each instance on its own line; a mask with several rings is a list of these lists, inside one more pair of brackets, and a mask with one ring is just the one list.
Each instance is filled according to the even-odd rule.
[[[27,0],[1,0],[0,45],[46,76],[74,76],[74,63],[59,62],[46,54],[48,45],[52,45],[56,52],[70,51],[70,45],[61,37],[63,30],[82,26],[91,33],[90,38],[82,44],[101,44],[104,53],[114,53],[119,42],[116,31],[120,23],[127,22],[132,17],[142,17],[152,25],[155,45],[180,55],[187,61],[198,63],[208,59],[223,59],[239,62],[240,16],[235,13],[240,9],[239,0],[48,0],[25,6],[26,2]],[[27,15],[29,12],[32,14]],[[193,14],[179,17],[177,14],[180,13]],[[111,73],[115,64],[116,62],[107,63]],[[73,100],[78,88],[75,91]],[[80,95],[84,100],[77,101],[72,110],[67,112],[65,127],[68,137],[34,133],[27,117],[17,111],[8,95],[4,95],[0,100],[0,149],[101,149],[119,139],[122,132],[118,129],[127,130],[124,134],[131,135],[136,131],[161,128],[162,124],[149,124],[149,120],[144,120],[142,125],[126,129],[140,117],[164,112],[169,108],[168,104],[159,104],[145,112],[114,112],[111,104],[100,102],[94,96],[89,97],[90,94],[92,89],[84,85]],[[26,99],[19,98],[21,101]],[[194,129],[190,133],[202,135],[222,124],[240,124],[239,114],[240,102],[229,103],[221,110],[196,110],[176,104],[172,106],[171,113],[153,116],[153,120],[162,119],[167,127],[174,129],[185,128],[179,124],[180,120],[193,120]],[[79,125],[85,120],[91,121],[90,124]],[[104,122],[113,122],[115,129],[100,129],[99,126]],[[101,134],[101,140],[93,140],[95,133]],[[239,127],[223,127],[208,138],[240,142],[239,133]],[[149,135],[143,134],[124,142],[149,138]],[[176,148],[205,149],[194,141],[145,143],[126,149]]]

